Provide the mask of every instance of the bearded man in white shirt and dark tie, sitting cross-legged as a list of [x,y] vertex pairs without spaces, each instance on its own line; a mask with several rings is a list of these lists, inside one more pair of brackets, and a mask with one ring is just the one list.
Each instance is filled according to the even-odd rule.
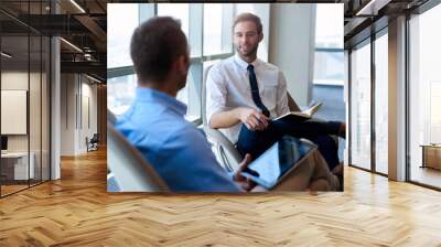
[[215,64],[207,76],[207,119],[237,143],[240,153],[258,157],[282,136],[306,138],[333,169],[337,148],[329,135],[344,136],[345,125],[336,121],[271,121],[289,110],[287,80],[275,65],[257,58],[263,39],[260,19],[239,14],[234,22],[236,55]]

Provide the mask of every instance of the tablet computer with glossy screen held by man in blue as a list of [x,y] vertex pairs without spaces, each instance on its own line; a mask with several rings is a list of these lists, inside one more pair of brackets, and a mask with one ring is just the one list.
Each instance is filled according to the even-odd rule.
[[297,168],[299,161],[316,146],[293,137],[283,137],[241,173],[270,190]]

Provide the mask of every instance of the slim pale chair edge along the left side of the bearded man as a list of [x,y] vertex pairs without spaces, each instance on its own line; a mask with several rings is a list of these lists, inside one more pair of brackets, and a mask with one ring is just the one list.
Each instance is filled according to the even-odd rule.
[[206,79],[212,66],[213,65],[209,65],[208,67],[205,68],[202,80],[202,97],[201,97],[202,122],[204,131],[208,136],[208,139],[215,142],[217,157],[222,160],[224,168],[228,171],[234,171],[238,169],[243,157],[234,147],[234,144],[228,140],[228,138],[225,137],[224,133],[222,133],[217,129],[209,128],[208,119],[206,118]]

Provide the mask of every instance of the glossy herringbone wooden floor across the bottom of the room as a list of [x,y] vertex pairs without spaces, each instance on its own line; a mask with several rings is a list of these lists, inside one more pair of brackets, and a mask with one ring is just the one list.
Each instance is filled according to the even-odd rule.
[[106,153],[0,200],[0,246],[441,246],[441,193],[347,168],[344,193],[106,192]]

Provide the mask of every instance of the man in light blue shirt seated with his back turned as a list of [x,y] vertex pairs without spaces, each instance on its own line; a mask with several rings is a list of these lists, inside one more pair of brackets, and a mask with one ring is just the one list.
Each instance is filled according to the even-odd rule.
[[175,99],[185,86],[189,46],[179,22],[153,18],[133,33],[130,44],[138,75],[136,98],[116,128],[153,165],[173,192],[240,192],[255,184],[229,175],[217,163],[203,131],[184,119]]

